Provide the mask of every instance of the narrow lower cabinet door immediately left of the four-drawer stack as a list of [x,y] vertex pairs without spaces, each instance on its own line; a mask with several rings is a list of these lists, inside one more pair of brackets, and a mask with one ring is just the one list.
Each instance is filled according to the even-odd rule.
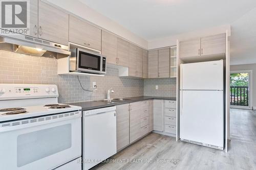
[[154,119],[154,130],[163,131],[163,102],[162,100],[153,101],[153,119]]

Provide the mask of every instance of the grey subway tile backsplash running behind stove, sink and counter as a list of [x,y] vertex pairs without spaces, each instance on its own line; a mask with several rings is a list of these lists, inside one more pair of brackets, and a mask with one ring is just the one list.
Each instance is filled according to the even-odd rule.
[[[107,67],[104,77],[79,76],[83,88],[92,90],[93,82],[98,89],[94,92],[82,90],[77,76],[57,75],[57,60],[54,58],[21,55],[0,51],[0,83],[56,84],[59,90],[59,103],[101,100],[113,88],[112,98],[153,95],[175,96],[175,79],[139,79],[118,77],[118,69]],[[159,86],[155,90],[155,85]]]

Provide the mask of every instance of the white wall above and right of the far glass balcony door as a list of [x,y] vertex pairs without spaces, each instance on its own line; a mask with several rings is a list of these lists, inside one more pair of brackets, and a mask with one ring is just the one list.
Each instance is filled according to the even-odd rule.
[[252,70],[252,107],[256,109],[256,64],[230,65],[230,71]]

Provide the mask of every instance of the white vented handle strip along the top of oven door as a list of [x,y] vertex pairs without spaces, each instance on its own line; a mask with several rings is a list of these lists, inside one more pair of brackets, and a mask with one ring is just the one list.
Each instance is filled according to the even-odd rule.
[[57,115],[41,116],[36,118],[21,119],[21,120],[16,120],[11,122],[0,123],[0,133],[24,129],[24,128],[30,128],[30,127],[40,126],[40,125],[52,124],[56,122],[62,122],[69,119],[80,118],[81,115],[82,115],[81,111],[79,111],[79,112],[62,113]]

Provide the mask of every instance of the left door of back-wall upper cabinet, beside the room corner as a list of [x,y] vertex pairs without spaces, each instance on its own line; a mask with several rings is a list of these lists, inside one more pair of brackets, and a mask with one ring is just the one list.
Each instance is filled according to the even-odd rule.
[[148,78],[158,78],[158,50],[148,51]]

